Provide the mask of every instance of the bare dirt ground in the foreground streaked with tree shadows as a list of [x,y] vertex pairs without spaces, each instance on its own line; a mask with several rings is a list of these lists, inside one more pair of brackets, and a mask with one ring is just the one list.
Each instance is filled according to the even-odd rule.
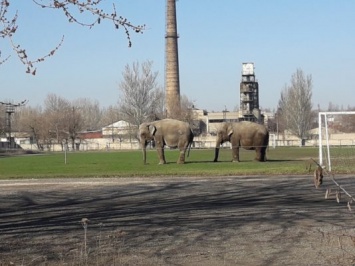
[[327,187],[310,176],[0,181],[0,265],[352,265],[354,213],[324,199]]

